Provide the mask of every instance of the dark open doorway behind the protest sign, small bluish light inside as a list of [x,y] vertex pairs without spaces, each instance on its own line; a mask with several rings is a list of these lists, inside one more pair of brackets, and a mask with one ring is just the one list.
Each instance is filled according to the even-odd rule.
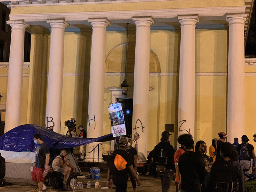
[[129,138],[132,138],[132,107],[133,99],[124,99],[117,98],[117,102],[121,103],[123,113],[124,113],[124,122],[126,127],[126,135]]

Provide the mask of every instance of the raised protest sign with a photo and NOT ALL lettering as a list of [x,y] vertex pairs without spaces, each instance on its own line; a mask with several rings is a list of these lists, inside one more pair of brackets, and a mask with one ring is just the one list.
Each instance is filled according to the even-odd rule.
[[114,105],[109,106],[109,117],[111,121],[113,137],[126,135],[124,114],[121,103],[116,103]]

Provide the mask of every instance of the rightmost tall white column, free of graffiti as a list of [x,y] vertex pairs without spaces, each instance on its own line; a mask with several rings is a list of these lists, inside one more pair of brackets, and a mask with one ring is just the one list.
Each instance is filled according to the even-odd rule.
[[227,141],[245,131],[244,22],[246,15],[227,15],[229,57],[227,72]]

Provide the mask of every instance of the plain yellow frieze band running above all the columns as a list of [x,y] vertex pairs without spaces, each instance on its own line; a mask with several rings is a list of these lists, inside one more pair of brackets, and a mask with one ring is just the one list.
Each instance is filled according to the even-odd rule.
[[40,14],[62,12],[99,12],[99,11],[130,11],[130,10],[161,10],[195,7],[229,7],[244,6],[244,0],[170,0],[149,2],[125,2],[108,4],[79,4],[11,7],[11,14]]

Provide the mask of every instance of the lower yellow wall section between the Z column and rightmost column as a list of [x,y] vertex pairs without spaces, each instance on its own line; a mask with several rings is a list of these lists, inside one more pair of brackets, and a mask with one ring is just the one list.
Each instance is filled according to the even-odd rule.
[[195,142],[210,147],[218,133],[226,132],[227,76],[196,76]]

